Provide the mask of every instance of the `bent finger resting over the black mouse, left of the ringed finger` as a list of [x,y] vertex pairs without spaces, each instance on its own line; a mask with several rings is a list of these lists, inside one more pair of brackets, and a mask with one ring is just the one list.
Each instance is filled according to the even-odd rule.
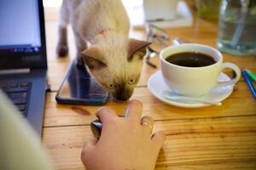
[[102,107],[96,111],[96,116],[102,123],[108,122],[113,117],[117,117],[116,113],[109,107]]

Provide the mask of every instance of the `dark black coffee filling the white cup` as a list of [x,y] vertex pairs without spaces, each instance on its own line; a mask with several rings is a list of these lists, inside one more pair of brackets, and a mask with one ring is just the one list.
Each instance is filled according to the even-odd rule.
[[195,52],[172,54],[166,58],[166,61],[174,65],[187,67],[201,67],[216,63],[216,60],[214,60],[210,55]]

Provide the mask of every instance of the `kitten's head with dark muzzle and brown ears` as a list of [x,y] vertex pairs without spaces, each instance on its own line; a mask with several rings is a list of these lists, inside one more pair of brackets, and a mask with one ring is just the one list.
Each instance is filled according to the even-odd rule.
[[127,39],[93,44],[81,54],[96,81],[116,100],[133,94],[143,68],[143,56],[150,42]]

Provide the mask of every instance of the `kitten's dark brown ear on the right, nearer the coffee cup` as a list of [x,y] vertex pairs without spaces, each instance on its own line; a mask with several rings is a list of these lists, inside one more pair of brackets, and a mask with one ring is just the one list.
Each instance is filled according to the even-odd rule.
[[150,45],[151,42],[140,41],[136,39],[129,39],[128,42],[128,61],[131,61],[134,56],[138,56],[139,59],[143,59],[144,55],[147,54],[147,46]]

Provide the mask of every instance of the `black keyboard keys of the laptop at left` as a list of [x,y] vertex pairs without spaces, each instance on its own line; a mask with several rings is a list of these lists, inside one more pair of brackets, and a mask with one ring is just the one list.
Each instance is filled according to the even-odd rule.
[[0,88],[17,106],[23,116],[27,116],[28,99],[32,82],[0,82]]

